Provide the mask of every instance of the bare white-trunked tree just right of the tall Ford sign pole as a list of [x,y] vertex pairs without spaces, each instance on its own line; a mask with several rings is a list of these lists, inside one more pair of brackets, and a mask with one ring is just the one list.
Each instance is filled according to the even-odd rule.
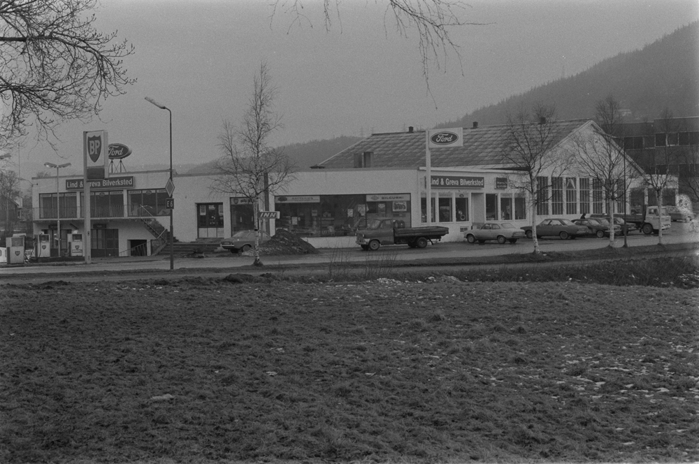
[[567,157],[554,150],[555,115],[555,108],[543,103],[535,103],[531,109],[521,104],[514,115],[507,115],[503,158],[519,172],[508,177],[508,182],[512,189],[524,193],[531,208],[529,217],[535,253],[540,252],[536,236],[538,207],[551,198],[549,179],[561,175],[568,166]]

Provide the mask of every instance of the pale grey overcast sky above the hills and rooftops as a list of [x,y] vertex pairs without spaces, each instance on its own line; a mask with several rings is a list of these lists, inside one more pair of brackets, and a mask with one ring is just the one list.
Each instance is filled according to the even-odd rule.
[[27,140],[22,177],[48,171],[46,161],[82,173],[82,131],[101,129],[131,148],[127,171],[167,165],[168,112],[146,96],[172,111],[175,167],[217,159],[223,122],[240,122],[262,62],[277,88],[279,146],[431,128],[699,19],[697,0],[468,1],[459,17],[483,25],[451,29],[458,52],[431,63],[426,80],[417,32],[396,32],[387,0],[338,1],[329,29],[322,1],[301,1],[303,17],[289,0],[276,10],[273,0],[99,0],[96,27],[135,46],[124,63],[137,82],[92,121],[62,124],[57,150]]

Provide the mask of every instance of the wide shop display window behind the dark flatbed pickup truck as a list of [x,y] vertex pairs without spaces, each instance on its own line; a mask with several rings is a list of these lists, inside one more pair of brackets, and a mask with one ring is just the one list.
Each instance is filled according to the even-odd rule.
[[401,219],[410,224],[410,194],[291,195],[275,197],[276,225],[296,235],[354,235],[372,219]]

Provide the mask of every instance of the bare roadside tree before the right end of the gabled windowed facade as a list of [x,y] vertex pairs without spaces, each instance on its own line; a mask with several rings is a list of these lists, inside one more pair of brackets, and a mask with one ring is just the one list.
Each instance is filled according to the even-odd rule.
[[[593,131],[574,138],[577,171],[596,180],[602,189],[610,223],[610,247],[614,246],[614,208],[626,200],[628,184],[635,176],[635,164],[624,152],[624,117],[621,103],[609,95],[597,102]],[[628,161],[628,162],[627,162]]]

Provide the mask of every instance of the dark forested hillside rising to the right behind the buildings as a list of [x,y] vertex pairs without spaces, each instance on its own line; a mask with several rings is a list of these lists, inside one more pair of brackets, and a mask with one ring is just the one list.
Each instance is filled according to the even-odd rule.
[[539,101],[553,103],[559,119],[594,117],[596,102],[609,94],[630,111],[626,117],[629,122],[654,119],[665,108],[676,117],[699,115],[699,22],[641,50],[605,59],[582,73],[510,96],[439,126],[469,127],[474,121],[505,124],[508,110]]

